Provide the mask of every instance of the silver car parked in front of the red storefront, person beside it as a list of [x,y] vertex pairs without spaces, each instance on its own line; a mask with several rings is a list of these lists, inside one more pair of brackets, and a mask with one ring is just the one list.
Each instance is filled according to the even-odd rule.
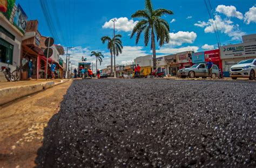
[[[219,78],[219,68],[217,65],[213,65],[212,67],[212,79]],[[208,69],[206,64],[195,64],[190,68],[183,68],[179,69],[178,76],[181,78],[186,78],[188,76],[189,78],[197,78],[197,77],[208,77]]]

